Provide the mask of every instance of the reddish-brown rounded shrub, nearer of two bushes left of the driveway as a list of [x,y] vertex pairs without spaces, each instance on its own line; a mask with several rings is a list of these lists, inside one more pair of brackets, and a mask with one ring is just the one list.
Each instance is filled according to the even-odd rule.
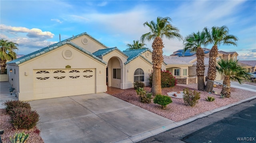
[[15,129],[32,129],[39,121],[39,115],[36,111],[24,107],[13,108],[10,117]]

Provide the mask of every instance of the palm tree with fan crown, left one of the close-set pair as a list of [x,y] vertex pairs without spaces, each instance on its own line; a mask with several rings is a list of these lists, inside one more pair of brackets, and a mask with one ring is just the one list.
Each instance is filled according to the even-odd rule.
[[184,39],[184,49],[183,53],[187,50],[192,52],[196,52],[196,75],[198,77],[198,90],[204,90],[204,50],[202,49],[202,45],[205,44],[206,34],[204,32],[197,32],[188,35]]

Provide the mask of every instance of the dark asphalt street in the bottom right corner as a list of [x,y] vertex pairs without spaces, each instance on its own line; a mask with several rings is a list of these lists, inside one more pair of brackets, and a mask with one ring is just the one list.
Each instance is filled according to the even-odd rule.
[[256,99],[138,143],[256,143]]

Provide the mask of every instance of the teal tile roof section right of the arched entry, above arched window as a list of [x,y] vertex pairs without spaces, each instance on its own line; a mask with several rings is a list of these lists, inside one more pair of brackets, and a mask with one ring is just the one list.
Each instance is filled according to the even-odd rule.
[[143,48],[143,49],[134,49],[134,50],[123,51],[126,55],[128,55],[128,59],[127,59],[127,61],[124,64],[130,63],[130,61],[132,61],[135,58],[139,57],[142,53],[144,53],[146,51],[150,51],[150,50],[148,48]]

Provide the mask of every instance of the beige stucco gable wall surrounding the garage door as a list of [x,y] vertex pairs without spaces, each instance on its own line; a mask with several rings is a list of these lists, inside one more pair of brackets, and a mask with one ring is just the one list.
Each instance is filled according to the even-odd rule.
[[[71,59],[65,59],[62,55],[63,51],[70,50],[72,52]],[[106,87],[106,65],[95,60],[89,55],[82,53],[78,49],[70,45],[64,45],[53,51],[38,56],[19,65],[20,71],[20,90],[19,100],[34,100],[34,71],[40,69],[57,70],[66,69],[94,69],[94,93],[105,92]],[[26,75],[25,75],[26,72]],[[71,83],[71,82],[70,82]],[[54,84],[54,83],[52,83]],[[88,92],[89,93],[89,92]],[[64,96],[62,93],[60,96]],[[48,98],[48,97],[47,97]],[[39,99],[38,97],[36,99]]]

